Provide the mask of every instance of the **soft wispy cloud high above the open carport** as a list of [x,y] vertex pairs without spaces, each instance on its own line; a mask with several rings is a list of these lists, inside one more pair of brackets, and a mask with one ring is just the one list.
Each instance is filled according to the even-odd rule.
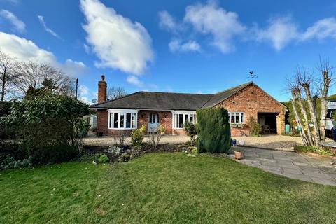
[[255,28],[253,36],[258,42],[267,41],[272,43],[275,50],[282,50],[291,41],[295,41],[300,36],[297,25],[290,16],[272,18],[269,20],[267,29]]

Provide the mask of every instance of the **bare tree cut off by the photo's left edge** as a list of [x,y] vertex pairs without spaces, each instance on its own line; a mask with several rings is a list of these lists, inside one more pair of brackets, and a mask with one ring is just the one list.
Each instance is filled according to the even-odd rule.
[[13,73],[14,66],[15,66],[15,59],[0,50],[1,101],[3,101],[5,99],[6,94],[10,92],[10,85],[13,85],[15,78]]

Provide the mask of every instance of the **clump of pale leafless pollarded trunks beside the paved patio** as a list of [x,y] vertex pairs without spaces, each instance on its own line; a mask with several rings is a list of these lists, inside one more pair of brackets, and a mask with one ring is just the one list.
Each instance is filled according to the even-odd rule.
[[[321,141],[325,141],[325,118],[328,91],[332,85],[332,66],[328,60],[320,59],[318,71],[321,76],[316,77],[313,70],[302,66],[296,69],[292,78],[287,79],[288,90],[292,94],[293,113],[298,120],[302,141],[307,146],[316,147],[320,146]],[[318,120],[316,105],[318,97],[321,99],[320,120]],[[308,109],[304,103],[307,103]],[[303,119],[300,119],[300,113]],[[310,120],[308,120],[309,117]]]

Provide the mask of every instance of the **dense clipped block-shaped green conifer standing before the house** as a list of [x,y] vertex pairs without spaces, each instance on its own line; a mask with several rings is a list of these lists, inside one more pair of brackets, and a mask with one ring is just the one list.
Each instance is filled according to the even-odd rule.
[[197,136],[200,153],[226,153],[231,147],[228,111],[223,108],[197,110]]

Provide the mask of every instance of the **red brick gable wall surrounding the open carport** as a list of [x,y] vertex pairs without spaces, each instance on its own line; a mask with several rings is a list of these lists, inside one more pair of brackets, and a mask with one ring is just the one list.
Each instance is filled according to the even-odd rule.
[[[285,108],[256,85],[248,85],[244,90],[216,105],[230,112],[244,112],[245,122],[253,116],[258,120],[259,113],[279,113],[276,116],[276,132],[281,134],[285,126]],[[248,134],[248,129],[231,127],[232,136]]]

